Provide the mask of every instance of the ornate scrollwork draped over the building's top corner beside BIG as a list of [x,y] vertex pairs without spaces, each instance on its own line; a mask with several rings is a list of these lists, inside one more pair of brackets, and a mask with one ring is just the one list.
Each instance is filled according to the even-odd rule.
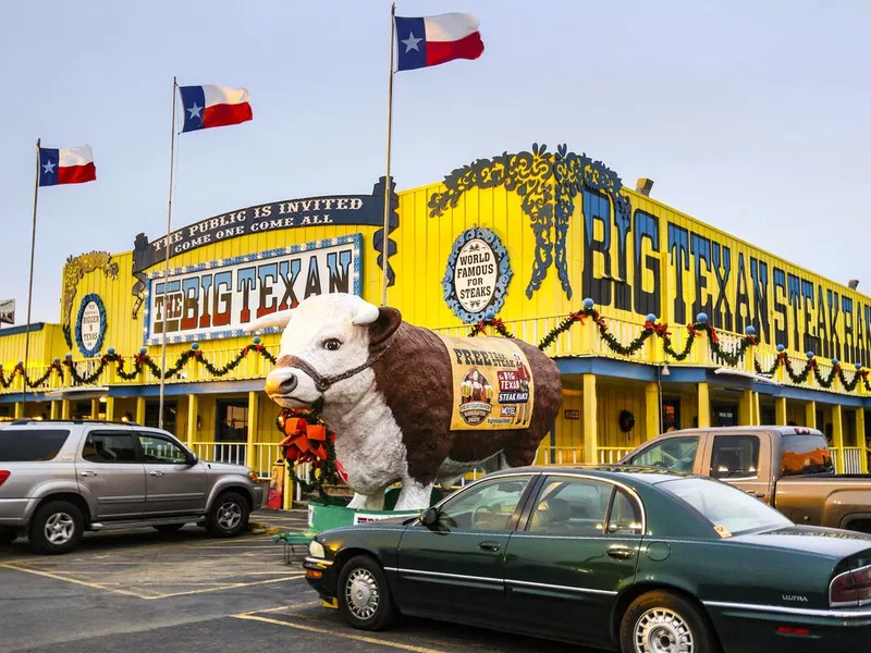
[[503,152],[457,168],[444,178],[447,189],[430,197],[430,218],[456,207],[469,188],[504,185],[507,190],[516,192],[536,236],[536,260],[526,296],[531,297],[541,287],[548,269],[555,263],[563,291],[572,298],[566,251],[575,197],[585,187],[608,195],[621,229],[628,227],[631,205],[629,198],[621,194],[621,178],[604,163],[593,161],[587,155],[569,152],[565,145],[561,145],[556,153],[549,153],[547,147],[533,144],[531,152]]

